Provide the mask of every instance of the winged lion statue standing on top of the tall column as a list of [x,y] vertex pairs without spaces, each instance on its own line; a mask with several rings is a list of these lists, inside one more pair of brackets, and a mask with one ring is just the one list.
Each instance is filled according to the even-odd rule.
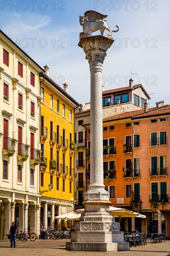
[[96,11],[87,11],[85,12],[84,16],[79,16],[79,22],[83,27],[84,34],[87,36],[92,36],[93,32],[100,30],[101,35],[104,35],[105,29],[109,31],[107,36],[111,36],[112,32],[118,32],[118,25],[116,25],[118,29],[113,30],[107,25],[107,20],[105,20],[106,17],[107,15],[98,13]]

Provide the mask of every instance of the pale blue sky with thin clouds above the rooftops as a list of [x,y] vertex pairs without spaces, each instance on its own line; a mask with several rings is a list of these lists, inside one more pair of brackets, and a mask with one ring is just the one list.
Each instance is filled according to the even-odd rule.
[[[78,47],[79,15],[87,10],[107,14],[114,44],[103,68],[105,90],[142,83],[152,98],[149,106],[170,104],[170,1],[169,0],[1,0],[0,28],[78,102],[90,101],[90,71]],[[97,33],[95,33],[97,34]],[[105,35],[107,32],[105,31]]]

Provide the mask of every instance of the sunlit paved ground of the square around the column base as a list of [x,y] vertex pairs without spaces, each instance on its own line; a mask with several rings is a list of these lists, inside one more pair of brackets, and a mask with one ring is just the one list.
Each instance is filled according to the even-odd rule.
[[130,251],[119,252],[85,252],[67,251],[63,240],[36,240],[23,243],[16,241],[16,248],[10,248],[10,242],[0,242],[0,256],[170,256],[170,240],[166,243],[148,243],[144,246],[132,247]]

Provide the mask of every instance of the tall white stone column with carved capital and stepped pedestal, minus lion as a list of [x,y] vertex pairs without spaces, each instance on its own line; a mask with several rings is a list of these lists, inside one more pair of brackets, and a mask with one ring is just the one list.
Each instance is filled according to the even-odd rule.
[[75,223],[67,250],[118,251],[129,250],[124,243],[124,233],[109,211],[111,202],[103,182],[103,115],[102,115],[102,70],[106,51],[113,38],[102,35],[82,37],[78,46],[83,48],[91,72],[91,172],[90,185],[85,193],[84,213]]

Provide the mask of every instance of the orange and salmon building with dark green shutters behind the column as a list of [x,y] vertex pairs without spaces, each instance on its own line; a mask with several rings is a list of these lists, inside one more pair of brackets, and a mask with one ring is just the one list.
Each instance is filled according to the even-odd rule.
[[[122,218],[121,230],[170,237],[170,106],[124,112],[103,119],[104,184],[111,205],[146,219]],[[86,128],[86,189],[90,183],[90,124]],[[118,220],[117,220],[118,221]]]

